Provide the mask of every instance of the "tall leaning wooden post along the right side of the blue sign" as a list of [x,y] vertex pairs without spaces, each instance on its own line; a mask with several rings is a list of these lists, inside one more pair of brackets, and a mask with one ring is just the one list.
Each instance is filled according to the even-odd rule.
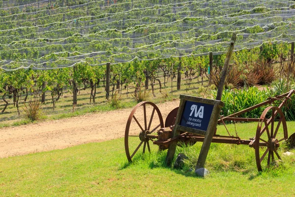
[[[223,69],[222,69],[222,73],[221,73],[221,77],[220,77],[220,81],[219,81],[219,86],[218,86],[218,90],[217,90],[216,100],[221,100],[223,87],[224,87],[224,84],[225,84],[226,74],[227,74],[227,71],[228,71],[228,68],[229,68],[229,65],[230,65],[230,60],[231,60],[232,55],[233,55],[235,41],[236,41],[236,34],[234,34],[233,37],[232,37],[231,44],[230,44],[228,53],[226,55],[226,59],[224,61],[224,66],[223,66]],[[213,124],[208,126],[208,131],[207,131],[207,133],[205,135],[205,138],[204,138],[204,142],[203,142],[203,145],[202,145],[202,148],[201,148],[201,151],[200,151],[200,155],[199,155],[199,158],[198,158],[196,169],[204,167],[204,165],[205,165],[206,158],[207,158],[207,155],[208,155],[208,151],[209,151],[209,148],[210,148],[210,144],[211,144],[211,141],[212,141],[212,138],[213,138],[213,134],[214,134],[214,131],[215,131],[216,126],[217,126],[219,113],[217,114],[217,113],[213,112],[212,116],[213,116],[212,117]]]

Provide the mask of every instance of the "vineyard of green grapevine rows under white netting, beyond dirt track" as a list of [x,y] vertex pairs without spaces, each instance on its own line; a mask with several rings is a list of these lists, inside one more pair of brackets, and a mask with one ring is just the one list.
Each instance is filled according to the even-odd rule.
[[203,97],[233,33],[227,89],[290,81],[294,12],[291,0],[0,0],[0,110],[20,115],[39,96],[74,109],[144,89]]

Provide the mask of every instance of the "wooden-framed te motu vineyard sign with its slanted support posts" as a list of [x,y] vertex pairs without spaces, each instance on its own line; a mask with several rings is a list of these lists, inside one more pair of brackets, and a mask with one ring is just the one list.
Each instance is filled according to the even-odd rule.
[[[198,158],[196,169],[204,167],[210,144],[217,126],[220,110],[224,103],[221,101],[225,78],[232,58],[236,34],[233,35],[229,50],[224,62],[222,73],[220,76],[219,86],[217,90],[216,100],[203,99],[198,97],[190,97],[180,95],[180,104],[177,112],[172,137],[180,134],[180,131],[190,132],[205,136]],[[177,141],[169,145],[166,164],[171,166],[175,155]]]

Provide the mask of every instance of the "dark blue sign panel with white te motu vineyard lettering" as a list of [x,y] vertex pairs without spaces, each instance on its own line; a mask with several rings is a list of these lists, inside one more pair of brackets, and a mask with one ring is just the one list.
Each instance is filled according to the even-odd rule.
[[179,125],[207,131],[213,106],[212,104],[186,100]]

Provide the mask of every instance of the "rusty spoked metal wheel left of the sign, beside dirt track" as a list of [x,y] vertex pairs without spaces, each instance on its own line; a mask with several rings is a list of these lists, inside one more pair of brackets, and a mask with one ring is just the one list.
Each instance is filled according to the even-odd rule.
[[[125,152],[129,162],[137,152],[143,154],[149,141],[156,135],[157,129],[163,128],[164,122],[159,108],[152,102],[138,103],[131,111],[125,129]],[[141,147],[143,147],[141,149]]]

